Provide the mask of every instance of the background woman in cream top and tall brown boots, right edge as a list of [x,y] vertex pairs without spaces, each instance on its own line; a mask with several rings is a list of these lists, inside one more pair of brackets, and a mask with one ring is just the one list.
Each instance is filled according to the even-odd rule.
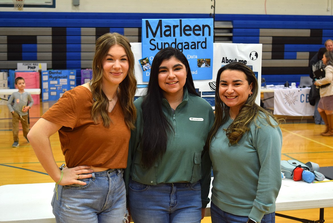
[[[325,77],[314,82],[316,86],[320,87],[318,112],[326,124],[326,130],[321,135],[333,136],[333,53],[325,52],[322,60],[325,65]],[[322,87],[325,84],[329,85]]]

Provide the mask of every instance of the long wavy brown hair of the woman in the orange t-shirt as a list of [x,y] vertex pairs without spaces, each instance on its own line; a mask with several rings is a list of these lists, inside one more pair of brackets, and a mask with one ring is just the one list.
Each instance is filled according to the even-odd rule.
[[137,89],[137,80],[134,73],[134,55],[129,40],[119,33],[106,33],[96,41],[95,55],[93,59],[93,78],[91,80],[91,91],[93,93],[93,106],[91,116],[97,124],[102,119],[105,127],[110,126],[112,120],[108,116],[109,100],[102,90],[103,61],[111,46],[120,45],[124,47],[128,57],[129,69],[125,79],[119,84],[118,100],[124,112],[125,123],[130,129],[134,129],[137,117],[134,106],[134,94]]

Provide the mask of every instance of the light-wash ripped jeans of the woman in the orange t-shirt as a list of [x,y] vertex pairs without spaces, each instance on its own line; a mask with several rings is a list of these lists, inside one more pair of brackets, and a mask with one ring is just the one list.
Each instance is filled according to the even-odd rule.
[[126,189],[123,170],[113,169],[92,173],[80,179],[86,185],[58,186],[54,192],[53,214],[57,222],[126,222]]

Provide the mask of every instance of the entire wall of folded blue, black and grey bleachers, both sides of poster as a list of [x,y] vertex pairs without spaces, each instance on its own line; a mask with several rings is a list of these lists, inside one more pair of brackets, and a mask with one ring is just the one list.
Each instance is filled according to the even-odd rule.
[[[209,18],[208,14],[1,12],[0,68],[40,61],[48,69],[90,68],[96,38],[119,32],[141,42],[143,18]],[[215,42],[261,43],[266,84],[299,82],[309,60],[333,39],[332,16],[216,14]],[[79,73],[79,72],[77,72]]]

